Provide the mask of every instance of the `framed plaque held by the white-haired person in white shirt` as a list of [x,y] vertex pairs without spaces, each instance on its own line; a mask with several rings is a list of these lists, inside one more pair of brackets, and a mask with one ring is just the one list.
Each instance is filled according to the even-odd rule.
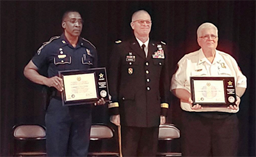
[[228,107],[235,105],[234,77],[190,77],[193,105]]

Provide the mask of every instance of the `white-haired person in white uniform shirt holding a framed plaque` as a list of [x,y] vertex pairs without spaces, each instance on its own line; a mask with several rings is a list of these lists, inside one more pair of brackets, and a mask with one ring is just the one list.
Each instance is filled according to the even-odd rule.
[[[197,29],[200,50],[180,59],[173,74],[171,91],[180,99],[182,112],[182,157],[236,157],[239,103],[246,89],[246,77],[236,60],[216,50],[218,29],[204,23]],[[192,105],[190,77],[234,77],[236,105],[202,107]]]

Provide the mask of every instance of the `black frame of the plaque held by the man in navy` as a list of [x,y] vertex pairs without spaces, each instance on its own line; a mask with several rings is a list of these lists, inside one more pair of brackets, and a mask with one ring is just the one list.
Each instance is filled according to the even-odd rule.
[[[93,99],[83,99],[83,100],[68,100],[65,96],[65,80],[63,76],[65,75],[77,75],[77,74],[84,74],[84,73],[94,73],[95,75],[95,86],[97,90],[97,98]],[[106,102],[109,101],[109,89],[108,89],[108,79],[106,68],[90,68],[87,70],[66,70],[66,71],[59,71],[59,77],[63,79],[64,84],[64,91],[61,92],[61,100],[63,106],[70,106],[70,105],[83,105],[83,104],[92,104],[97,102],[100,98],[104,98]],[[100,94],[104,93],[104,94]],[[102,95],[104,97],[102,97]]]

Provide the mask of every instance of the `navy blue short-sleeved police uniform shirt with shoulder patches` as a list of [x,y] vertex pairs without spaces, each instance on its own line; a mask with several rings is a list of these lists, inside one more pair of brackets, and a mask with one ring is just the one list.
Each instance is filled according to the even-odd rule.
[[58,71],[97,67],[97,52],[90,41],[79,37],[76,47],[73,47],[65,35],[61,34],[45,42],[32,61],[39,69],[47,64],[48,77],[54,77]]

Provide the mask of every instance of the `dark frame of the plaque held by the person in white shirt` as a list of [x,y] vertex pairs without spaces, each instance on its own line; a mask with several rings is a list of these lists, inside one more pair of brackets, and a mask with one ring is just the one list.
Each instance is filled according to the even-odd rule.
[[[221,80],[223,81],[224,87],[224,96],[225,103],[198,103],[195,101],[195,87],[194,80],[207,80],[211,82],[211,80]],[[193,100],[193,105],[199,104],[202,107],[228,107],[229,105],[236,105],[236,83],[234,81],[234,77],[190,77],[190,86],[191,86],[191,99]],[[234,98],[232,98],[234,97]],[[234,102],[228,101],[228,98],[234,100]]]

